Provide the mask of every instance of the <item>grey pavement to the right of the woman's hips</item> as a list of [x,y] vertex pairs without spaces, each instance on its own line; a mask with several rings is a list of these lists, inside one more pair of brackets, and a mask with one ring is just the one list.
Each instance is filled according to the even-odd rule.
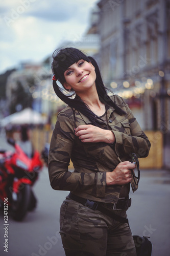
[[139,188],[130,193],[128,218],[133,234],[150,237],[153,256],[170,255],[170,172],[141,170]]

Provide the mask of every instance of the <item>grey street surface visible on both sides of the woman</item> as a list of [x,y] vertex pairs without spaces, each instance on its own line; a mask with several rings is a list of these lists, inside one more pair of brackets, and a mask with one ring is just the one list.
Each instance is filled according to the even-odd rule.
[[[133,194],[128,218],[133,234],[149,236],[153,256],[168,256],[170,251],[170,172],[141,170],[138,190]],[[8,216],[8,252],[4,251],[4,214],[0,214],[1,255],[8,256],[64,256],[59,236],[60,205],[67,191],[51,188],[47,168],[40,173],[33,188],[38,206],[22,222]],[[97,256],[97,255],[96,255]]]

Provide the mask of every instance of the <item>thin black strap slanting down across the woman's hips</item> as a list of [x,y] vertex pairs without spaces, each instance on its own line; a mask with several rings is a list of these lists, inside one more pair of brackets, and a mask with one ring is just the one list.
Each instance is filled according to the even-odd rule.
[[103,214],[106,214],[107,216],[109,216],[110,218],[112,218],[116,221],[123,222],[123,223],[129,223],[128,219],[114,214],[113,211],[103,207],[101,204],[98,204],[97,202],[94,202],[94,201],[91,201],[91,200],[88,200],[88,199],[85,199],[82,197],[78,197],[72,193],[69,193],[68,197],[78,203],[83,204],[84,206],[87,206],[90,209],[99,210]]

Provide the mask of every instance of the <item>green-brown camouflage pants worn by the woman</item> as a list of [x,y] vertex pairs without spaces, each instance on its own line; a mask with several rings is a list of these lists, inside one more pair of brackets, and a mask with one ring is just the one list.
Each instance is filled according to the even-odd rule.
[[[126,217],[125,210],[114,210]],[[66,197],[60,209],[60,234],[66,256],[136,256],[132,233],[120,223]]]

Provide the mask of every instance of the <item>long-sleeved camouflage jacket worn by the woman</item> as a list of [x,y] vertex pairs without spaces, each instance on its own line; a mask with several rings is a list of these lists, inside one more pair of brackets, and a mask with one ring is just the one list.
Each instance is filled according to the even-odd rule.
[[[150,142],[141,130],[126,102],[117,95],[112,100],[126,112],[118,115],[114,108],[107,110],[109,129],[115,135],[113,145],[105,142],[83,143],[75,136],[74,128],[90,124],[89,119],[67,106],[57,116],[53,131],[48,172],[51,186],[57,190],[68,190],[80,197],[106,203],[116,203],[122,185],[106,186],[106,172],[112,172],[121,161],[131,161],[131,154],[147,157]],[[106,122],[101,128],[106,129]],[[68,171],[70,159],[74,172]],[[132,182],[132,188],[137,189]]]

